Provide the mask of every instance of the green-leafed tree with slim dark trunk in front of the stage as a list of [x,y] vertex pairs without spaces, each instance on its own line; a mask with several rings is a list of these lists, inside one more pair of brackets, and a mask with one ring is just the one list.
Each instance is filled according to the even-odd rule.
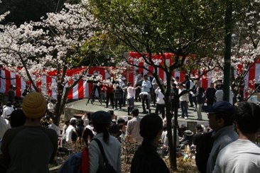
[[[141,58],[126,57],[119,65],[132,69],[143,68],[158,80],[158,70],[166,74],[166,118],[170,147],[170,163],[177,168],[172,134],[178,125],[178,106],[175,106],[174,123],[170,114],[170,79],[175,69],[183,67],[186,57],[193,54],[199,43],[208,43],[218,38],[224,24],[224,1],[99,1],[92,0],[95,16],[102,21],[107,32],[121,43],[138,52]],[[220,6],[220,4],[222,4]],[[217,40],[217,39],[216,39]],[[171,62],[165,52],[173,53]],[[153,60],[161,56],[161,62]],[[136,63],[133,63],[136,60]],[[143,62],[143,63],[138,63]],[[153,66],[154,71],[149,69]],[[159,85],[161,89],[163,86]],[[184,93],[182,93],[184,94]],[[181,95],[181,94],[180,94]],[[177,96],[177,99],[179,96]],[[178,101],[176,101],[178,104]],[[172,133],[172,127],[174,132]],[[176,139],[176,136],[174,136]]]

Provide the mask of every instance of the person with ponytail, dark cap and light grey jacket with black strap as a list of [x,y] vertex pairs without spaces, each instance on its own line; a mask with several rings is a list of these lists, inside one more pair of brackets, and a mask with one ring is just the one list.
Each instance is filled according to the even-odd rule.
[[[121,172],[121,147],[117,138],[114,138],[112,135],[109,135],[109,125],[112,121],[112,116],[110,113],[105,111],[97,111],[92,114],[92,123],[94,130],[97,132],[97,135],[94,135],[94,138],[97,138],[103,148],[104,154],[109,161],[109,164],[114,167],[117,173]],[[102,157],[102,152],[99,150],[99,145],[96,141],[90,142],[90,173],[102,172],[104,160]]]

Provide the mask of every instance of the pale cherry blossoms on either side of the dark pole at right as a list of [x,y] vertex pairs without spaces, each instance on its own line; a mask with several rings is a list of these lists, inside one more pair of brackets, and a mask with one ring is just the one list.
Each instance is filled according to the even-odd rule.
[[[256,62],[259,62],[259,1],[251,1],[251,3],[237,4],[233,11],[234,30],[232,38],[232,57],[231,57],[231,77],[230,84],[233,92],[233,103],[237,102],[236,96],[239,94],[239,89],[244,89],[244,92],[249,93],[249,96],[254,94],[257,89],[252,89],[246,85],[259,83],[257,79],[247,81],[249,70],[254,67]],[[190,61],[188,69],[200,69],[208,72],[213,69],[210,75],[212,81],[223,79],[224,76],[224,42],[219,40],[215,43],[210,43],[210,49],[205,48],[207,45],[201,45],[201,48],[210,50],[210,55],[206,55],[205,59],[210,64],[205,64],[200,61],[198,65]],[[213,65],[213,66],[212,66]],[[214,67],[214,68],[212,68]],[[211,70],[210,70],[211,71]],[[249,97],[245,98],[248,99]]]

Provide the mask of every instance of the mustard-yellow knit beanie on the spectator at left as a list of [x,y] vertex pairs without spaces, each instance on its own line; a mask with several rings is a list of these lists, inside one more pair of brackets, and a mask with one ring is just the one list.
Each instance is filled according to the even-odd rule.
[[28,118],[40,118],[44,115],[46,106],[43,94],[30,92],[23,99],[22,110]]

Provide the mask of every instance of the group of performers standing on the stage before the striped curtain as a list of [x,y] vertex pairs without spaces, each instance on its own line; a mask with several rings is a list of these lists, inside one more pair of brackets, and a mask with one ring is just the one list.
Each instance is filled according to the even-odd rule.
[[[98,71],[94,72],[97,76]],[[141,102],[143,111],[141,113],[151,113],[151,106],[156,107],[154,113],[161,114],[162,118],[165,117],[165,99],[164,93],[166,91],[166,84],[160,78],[151,76],[149,72],[143,74],[139,70],[134,72],[134,83],[128,82],[124,74],[117,79],[109,77],[106,83],[100,79],[94,85],[92,101],[97,97],[99,102],[105,102],[105,108],[109,106],[114,111],[122,111],[122,107],[127,106],[127,114],[130,115],[131,110],[134,108],[134,102]],[[207,89],[201,86],[202,79],[200,78],[200,71],[193,76],[185,74],[183,80],[180,77],[172,77],[170,80],[170,113],[174,113],[175,103],[178,102],[181,109],[179,118],[188,120],[188,107],[194,108],[193,111],[197,112],[197,120],[202,120],[202,106],[207,103],[208,106],[215,104],[217,101],[223,100],[223,84],[222,80],[217,80],[215,83],[210,83]],[[160,84],[158,84],[158,83]],[[161,85],[161,87],[160,87]],[[185,93],[178,98],[178,94]],[[243,89],[239,90],[237,101],[243,101]],[[98,95],[98,96],[97,96]],[[233,94],[230,91],[230,104],[233,104]]]

